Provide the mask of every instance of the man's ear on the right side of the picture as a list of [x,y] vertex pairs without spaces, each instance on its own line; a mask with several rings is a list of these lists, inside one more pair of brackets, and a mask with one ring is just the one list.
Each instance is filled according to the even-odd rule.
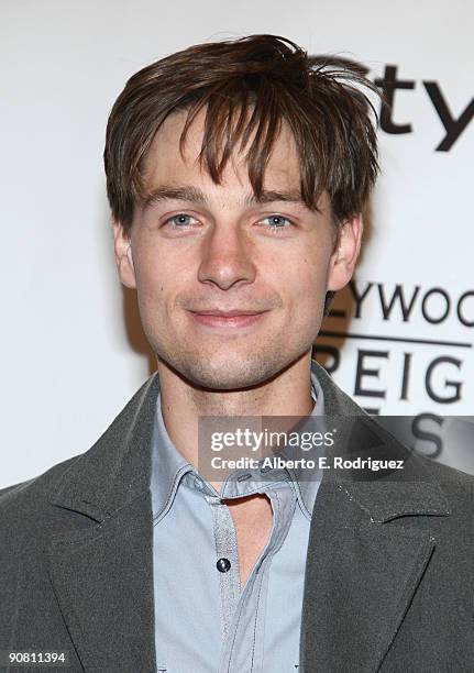
[[362,214],[341,224],[329,263],[328,291],[342,289],[352,278],[361,251],[363,228]]

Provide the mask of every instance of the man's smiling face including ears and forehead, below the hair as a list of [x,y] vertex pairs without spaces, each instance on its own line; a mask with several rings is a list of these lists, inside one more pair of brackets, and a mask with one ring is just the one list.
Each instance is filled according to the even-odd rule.
[[[321,212],[299,199],[297,152],[286,125],[257,202],[242,148],[221,185],[200,168],[202,112],[181,156],[185,119],[174,113],[155,135],[145,162],[146,192],[155,198],[135,208],[130,240],[114,224],[120,276],[137,289],[143,328],[159,361],[205,388],[245,388],[311,351],[327,290],[340,289],[352,275],[361,223],[349,222],[334,247],[327,196]],[[234,309],[260,315],[246,324],[196,316]]]

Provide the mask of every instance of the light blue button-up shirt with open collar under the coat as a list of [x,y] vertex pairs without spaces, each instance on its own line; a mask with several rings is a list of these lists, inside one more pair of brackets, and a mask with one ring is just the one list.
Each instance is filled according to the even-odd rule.
[[[322,416],[311,364],[310,416]],[[159,673],[290,673],[298,670],[311,512],[319,481],[273,470],[234,471],[220,494],[177,451],[157,400],[152,459],[155,647]],[[225,498],[268,496],[273,528],[245,586]],[[230,563],[219,572],[218,560]],[[221,561],[222,563],[222,561]],[[222,567],[222,565],[221,565]]]

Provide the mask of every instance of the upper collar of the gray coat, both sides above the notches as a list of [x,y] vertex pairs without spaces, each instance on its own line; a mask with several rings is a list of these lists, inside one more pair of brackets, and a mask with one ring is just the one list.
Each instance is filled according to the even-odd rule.
[[[407,470],[401,484],[396,473],[384,477],[383,498],[379,479],[360,481],[356,474],[352,479],[344,472],[341,487],[348,495],[375,521],[388,521],[409,514],[449,514],[444,494],[429,476],[422,461],[383,430],[313,360],[311,372],[316,374],[322,389],[328,418],[333,418],[334,422],[357,419],[357,433],[363,432],[364,441],[375,441],[376,445],[385,448],[390,457],[406,460]],[[158,395],[159,378],[155,372],[93,446],[64,473],[52,494],[53,505],[79,511],[101,522],[148,489],[152,432]],[[341,441],[345,442],[346,448],[351,443],[360,446],[360,438],[351,439],[353,426],[348,422],[342,424],[344,437],[340,434]]]

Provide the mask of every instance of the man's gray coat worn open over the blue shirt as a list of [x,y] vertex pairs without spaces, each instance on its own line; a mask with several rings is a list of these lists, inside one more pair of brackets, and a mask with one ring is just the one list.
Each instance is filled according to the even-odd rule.
[[[322,367],[318,378],[331,413],[362,413]],[[87,453],[0,492],[0,650],[66,650],[69,673],[155,671],[158,390],[154,374]],[[404,483],[323,479],[306,569],[305,673],[474,671],[474,477],[409,464],[417,476]]]

